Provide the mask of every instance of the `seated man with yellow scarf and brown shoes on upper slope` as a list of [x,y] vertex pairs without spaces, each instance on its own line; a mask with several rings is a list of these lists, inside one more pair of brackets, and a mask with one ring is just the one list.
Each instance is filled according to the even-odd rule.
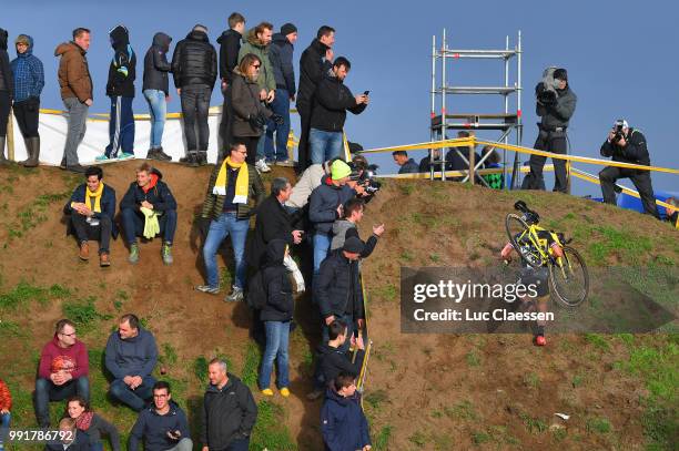
[[115,217],[115,189],[102,182],[103,171],[99,166],[85,170],[85,183],[78,186],[63,207],[70,216],[69,233],[75,235],[80,245],[80,259],[90,258],[89,240],[99,242],[99,265],[109,266],[109,243],[118,230]]

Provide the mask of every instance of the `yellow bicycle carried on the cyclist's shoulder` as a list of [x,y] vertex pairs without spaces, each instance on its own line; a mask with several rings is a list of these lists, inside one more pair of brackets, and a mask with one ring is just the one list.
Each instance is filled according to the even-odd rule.
[[505,219],[509,243],[521,259],[534,268],[549,269],[551,293],[566,307],[576,307],[589,294],[589,273],[585,260],[576,249],[568,246],[571,239],[564,234],[540,227],[540,216],[518,201]]

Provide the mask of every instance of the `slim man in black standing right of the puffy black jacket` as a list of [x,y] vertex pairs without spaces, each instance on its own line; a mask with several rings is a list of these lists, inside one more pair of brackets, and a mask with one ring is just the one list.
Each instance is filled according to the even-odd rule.
[[231,145],[231,117],[226,106],[226,89],[232,82],[233,70],[239,63],[239,51],[241,50],[241,39],[245,31],[245,18],[239,12],[229,16],[229,30],[217,38],[220,44],[220,78],[222,79],[222,95],[224,105],[222,106],[222,120],[220,121],[220,145],[217,161],[224,156],[224,151]]

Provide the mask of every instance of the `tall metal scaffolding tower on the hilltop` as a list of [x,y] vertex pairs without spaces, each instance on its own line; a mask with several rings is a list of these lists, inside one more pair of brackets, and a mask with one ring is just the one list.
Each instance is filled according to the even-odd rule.
[[[509,37],[507,35],[504,50],[455,50],[449,49],[446,42],[446,30],[443,30],[443,40],[440,48],[436,47],[436,35],[432,37],[432,122],[429,125],[432,141],[446,140],[448,130],[497,130],[501,132],[498,142],[508,143],[511,132],[516,135],[516,144],[521,144],[523,124],[521,124],[521,32],[518,31],[517,41],[514,49],[509,48]],[[500,86],[454,86],[448,84],[447,65],[463,59],[486,59],[504,61],[505,66],[505,84]],[[440,84],[437,88],[437,62],[440,60]],[[509,82],[509,64],[516,61],[516,79],[513,84]],[[500,95],[504,98],[504,113],[489,114],[448,114],[448,95]],[[436,114],[437,98],[440,96],[440,114]],[[515,111],[510,111],[509,99],[515,96]],[[454,147],[455,148],[455,147]],[[459,156],[467,163],[467,158],[456,150]],[[474,171],[482,167],[486,157],[482,157],[479,162],[474,162],[474,154],[470,153],[470,167]],[[432,163],[440,163],[442,180],[445,180],[445,161],[446,150],[442,150],[440,158],[434,158],[434,152],[429,151],[429,161]],[[518,160],[515,157],[514,167],[517,168]],[[514,171],[516,176],[516,171]],[[435,165],[432,164],[430,175],[434,180]],[[503,151],[503,174],[504,180],[507,180],[507,151]],[[469,174],[464,181],[469,180]],[[474,177],[470,178],[474,183]],[[486,183],[482,180],[483,183]],[[514,177],[513,177],[513,183]],[[506,185],[506,184],[505,184]]]

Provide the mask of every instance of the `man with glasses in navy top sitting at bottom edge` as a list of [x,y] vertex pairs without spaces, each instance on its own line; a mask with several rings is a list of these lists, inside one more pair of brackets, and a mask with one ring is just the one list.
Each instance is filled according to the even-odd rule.
[[136,451],[140,440],[144,451],[191,451],[191,431],[184,411],[172,400],[170,383],[153,385],[153,406],[139,413],[130,432],[129,451]]

